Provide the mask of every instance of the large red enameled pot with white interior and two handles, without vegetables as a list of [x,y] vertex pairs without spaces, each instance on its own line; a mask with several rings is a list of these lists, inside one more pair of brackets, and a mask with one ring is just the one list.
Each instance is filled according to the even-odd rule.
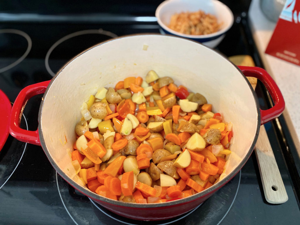
[[[233,124],[232,153],[220,182],[193,196],[152,204],[104,198],[82,185],[71,164],[74,128],[82,117],[80,107],[99,88],[114,87],[128,76],[145,77],[149,70],[155,70],[160,77],[171,76],[176,84],[204,95],[213,104],[212,110]],[[259,108],[245,76],[264,83],[274,107]],[[41,93],[44,96],[38,130],[22,130],[19,122],[26,102]],[[261,68],[236,67],[214,50],[187,39],[133,35],[93,46],[70,60],[51,81],[24,88],[13,104],[10,134],[18,140],[41,145],[52,166],[70,185],[105,208],[132,219],[162,220],[190,211],[232,179],[251,155],[260,125],[279,116],[283,109],[279,88]]]

